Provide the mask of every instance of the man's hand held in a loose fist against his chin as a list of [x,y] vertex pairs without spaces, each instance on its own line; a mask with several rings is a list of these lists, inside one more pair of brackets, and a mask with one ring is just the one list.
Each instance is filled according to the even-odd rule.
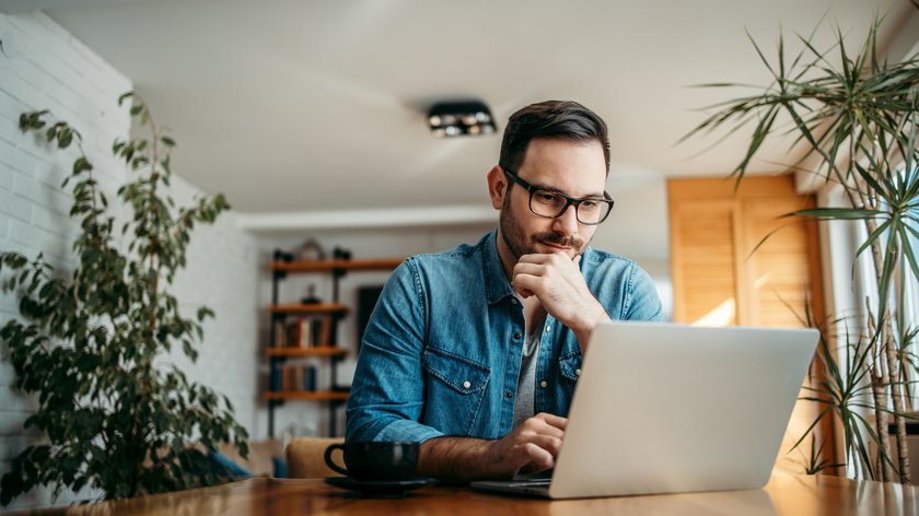
[[588,289],[580,261],[580,255],[571,259],[565,253],[521,256],[511,286],[524,298],[538,297],[549,315],[574,331],[583,352],[593,329],[609,316]]

